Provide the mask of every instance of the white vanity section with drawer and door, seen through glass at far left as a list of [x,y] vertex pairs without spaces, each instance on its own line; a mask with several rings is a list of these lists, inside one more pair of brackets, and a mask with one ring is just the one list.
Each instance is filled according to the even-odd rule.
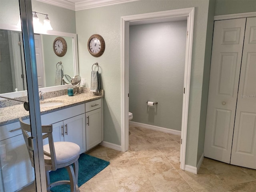
[[0,191],[16,191],[33,180],[20,122],[0,126]]

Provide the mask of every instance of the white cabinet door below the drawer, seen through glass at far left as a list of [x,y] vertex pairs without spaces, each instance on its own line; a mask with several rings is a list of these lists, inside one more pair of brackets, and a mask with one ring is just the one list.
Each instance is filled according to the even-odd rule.
[[[23,135],[0,141],[2,156],[0,176],[4,191],[16,191],[34,181],[34,168],[31,166]],[[2,184],[1,184],[2,185]]]

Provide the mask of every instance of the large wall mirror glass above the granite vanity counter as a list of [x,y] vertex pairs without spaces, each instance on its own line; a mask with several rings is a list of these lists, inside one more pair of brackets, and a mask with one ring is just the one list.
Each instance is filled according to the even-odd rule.
[[[56,37],[67,42],[65,56],[58,57],[53,51]],[[26,72],[22,34],[17,26],[0,25],[0,94],[26,90]],[[35,34],[38,88],[55,86],[56,63],[62,62],[64,74],[78,74],[77,35],[65,32],[47,31]],[[66,82],[68,78],[66,78]],[[71,78],[70,78],[71,80]]]

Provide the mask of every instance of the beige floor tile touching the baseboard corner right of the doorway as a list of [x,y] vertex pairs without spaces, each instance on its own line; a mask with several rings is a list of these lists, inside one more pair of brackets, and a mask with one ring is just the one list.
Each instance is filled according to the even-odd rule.
[[177,171],[195,191],[225,186],[225,184],[216,175],[212,174],[204,167],[199,169],[198,174],[183,170]]

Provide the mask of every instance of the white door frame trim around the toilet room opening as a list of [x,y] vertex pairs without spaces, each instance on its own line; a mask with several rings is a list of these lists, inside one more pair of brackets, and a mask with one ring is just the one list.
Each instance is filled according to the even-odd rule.
[[188,103],[190,90],[190,71],[192,62],[192,42],[195,8],[184,8],[121,17],[121,150],[129,148],[129,26],[187,20],[186,57],[184,70],[184,94],[182,104],[182,128],[180,147],[180,168],[185,169],[186,137],[188,124]]

